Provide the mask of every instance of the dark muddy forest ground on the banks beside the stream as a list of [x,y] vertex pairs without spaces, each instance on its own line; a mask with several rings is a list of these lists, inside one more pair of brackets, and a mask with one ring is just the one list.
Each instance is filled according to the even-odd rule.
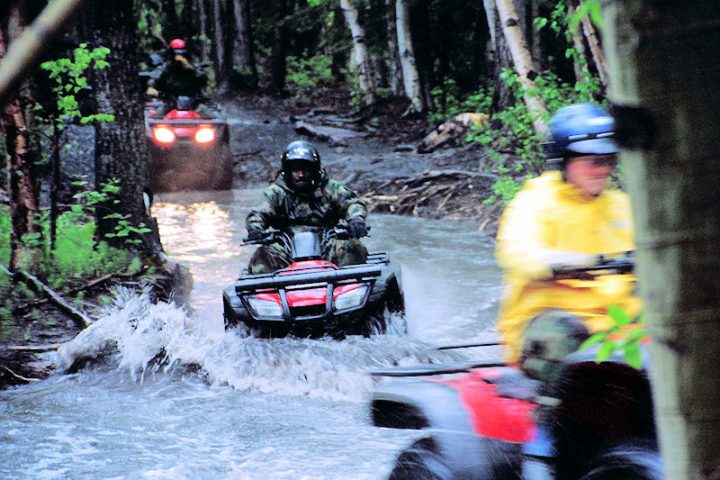
[[[431,153],[417,153],[416,147],[432,128],[422,118],[404,116],[406,105],[357,110],[332,95],[312,106],[257,96],[235,96],[221,103],[230,123],[235,187],[272,181],[285,145],[305,139],[320,151],[328,174],[346,181],[365,199],[370,224],[372,212],[470,218],[477,219],[478,228],[489,239],[494,237],[499,208],[483,205],[493,177],[476,173],[486,159],[482,149],[455,141]],[[83,162],[89,158],[84,152],[68,159],[67,167],[86,170],[90,166]],[[7,193],[0,189],[0,201],[7,200]],[[154,280],[163,289],[169,288],[168,278]],[[139,282],[139,278],[115,278],[88,289],[85,308],[92,311],[95,300],[118,283],[139,286]],[[41,352],[80,331],[51,303],[41,298],[35,301],[17,311],[12,325],[0,325],[0,388],[47,377],[53,366],[42,359]],[[13,346],[36,350],[9,348]]]

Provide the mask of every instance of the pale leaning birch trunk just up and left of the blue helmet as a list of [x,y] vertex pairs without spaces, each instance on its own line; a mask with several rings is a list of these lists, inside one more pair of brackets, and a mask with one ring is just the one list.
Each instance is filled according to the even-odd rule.
[[537,72],[533,67],[532,57],[527,48],[525,35],[521,28],[521,24],[515,11],[512,0],[495,0],[495,5],[500,17],[503,34],[510,48],[515,71],[523,86],[523,100],[530,111],[533,118],[533,127],[538,135],[547,135],[547,118],[548,111],[545,103],[536,94],[531,93],[537,88],[533,79],[537,76]]

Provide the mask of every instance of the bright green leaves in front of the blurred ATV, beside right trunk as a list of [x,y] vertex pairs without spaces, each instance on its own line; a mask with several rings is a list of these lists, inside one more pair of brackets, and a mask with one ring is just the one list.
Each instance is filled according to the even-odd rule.
[[580,350],[600,345],[595,357],[595,361],[598,363],[620,351],[628,365],[640,369],[642,367],[640,343],[648,336],[642,318],[631,318],[617,305],[611,305],[608,308],[608,315],[613,321],[613,326],[609,330],[598,332],[585,340],[580,345]]

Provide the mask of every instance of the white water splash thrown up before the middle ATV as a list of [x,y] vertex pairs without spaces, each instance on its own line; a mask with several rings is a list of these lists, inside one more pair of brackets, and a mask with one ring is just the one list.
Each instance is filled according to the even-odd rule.
[[439,363],[450,355],[429,354],[429,345],[393,329],[343,341],[260,339],[238,329],[218,331],[208,319],[150,297],[149,291],[119,290],[101,318],[57,352],[58,367],[68,370],[88,359],[112,361],[139,382],[148,374],[184,369],[238,390],[359,402],[372,387],[369,370]]

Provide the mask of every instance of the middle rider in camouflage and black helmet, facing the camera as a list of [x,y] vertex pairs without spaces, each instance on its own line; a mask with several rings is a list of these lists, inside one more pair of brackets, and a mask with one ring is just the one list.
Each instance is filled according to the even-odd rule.
[[[308,225],[332,228],[347,222],[350,239],[333,239],[326,260],[338,265],[365,263],[367,249],[359,240],[367,235],[367,208],[347,185],[329,179],[320,166],[317,149],[305,141],[288,144],[282,154],[282,169],[263,192],[262,204],[247,217],[248,237],[263,238],[267,228],[287,229]],[[292,259],[277,243],[260,246],[248,270],[267,273],[288,266]]]

